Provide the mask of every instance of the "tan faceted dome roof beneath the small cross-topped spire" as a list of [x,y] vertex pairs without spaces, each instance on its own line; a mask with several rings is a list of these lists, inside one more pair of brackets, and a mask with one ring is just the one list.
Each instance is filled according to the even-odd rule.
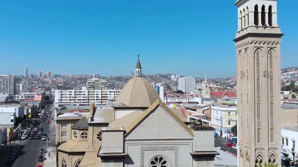
[[154,87],[142,77],[134,77],[127,82],[116,99],[114,107],[150,107],[160,99]]

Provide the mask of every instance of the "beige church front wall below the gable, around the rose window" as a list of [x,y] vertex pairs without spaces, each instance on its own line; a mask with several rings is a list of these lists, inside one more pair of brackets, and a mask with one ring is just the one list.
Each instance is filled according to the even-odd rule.
[[[150,160],[162,155],[170,166],[175,166],[177,159],[178,167],[192,166],[192,143],[185,141],[129,141],[125,143],[125,152],[129,156],[125,159],[125,167],[137,167],[141,164],[148,166]],[[175,157],[176,155],[176,157]],[[143,157],[143,159],[141,159]]]

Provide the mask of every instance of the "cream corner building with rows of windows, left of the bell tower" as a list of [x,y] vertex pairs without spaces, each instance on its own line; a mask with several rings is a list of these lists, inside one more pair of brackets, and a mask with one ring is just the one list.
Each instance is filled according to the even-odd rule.
[[218,102],[211,106],[211,126],[222,137],[231,136],[229,132],[237,125],[237,118],[237,106],[234,103]]

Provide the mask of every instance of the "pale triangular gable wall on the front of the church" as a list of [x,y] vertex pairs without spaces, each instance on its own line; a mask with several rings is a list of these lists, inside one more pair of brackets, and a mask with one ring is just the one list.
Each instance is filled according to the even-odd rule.
[[126,139],[192,139],[192,135],[161,106],[140,122]]

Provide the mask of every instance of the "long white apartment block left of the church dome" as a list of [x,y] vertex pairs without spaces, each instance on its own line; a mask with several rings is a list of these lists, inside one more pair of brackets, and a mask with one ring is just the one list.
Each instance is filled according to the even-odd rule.
[[106,106],[108,101],[115,99],[121,90],[55,90],[55,108],[63,106]]

